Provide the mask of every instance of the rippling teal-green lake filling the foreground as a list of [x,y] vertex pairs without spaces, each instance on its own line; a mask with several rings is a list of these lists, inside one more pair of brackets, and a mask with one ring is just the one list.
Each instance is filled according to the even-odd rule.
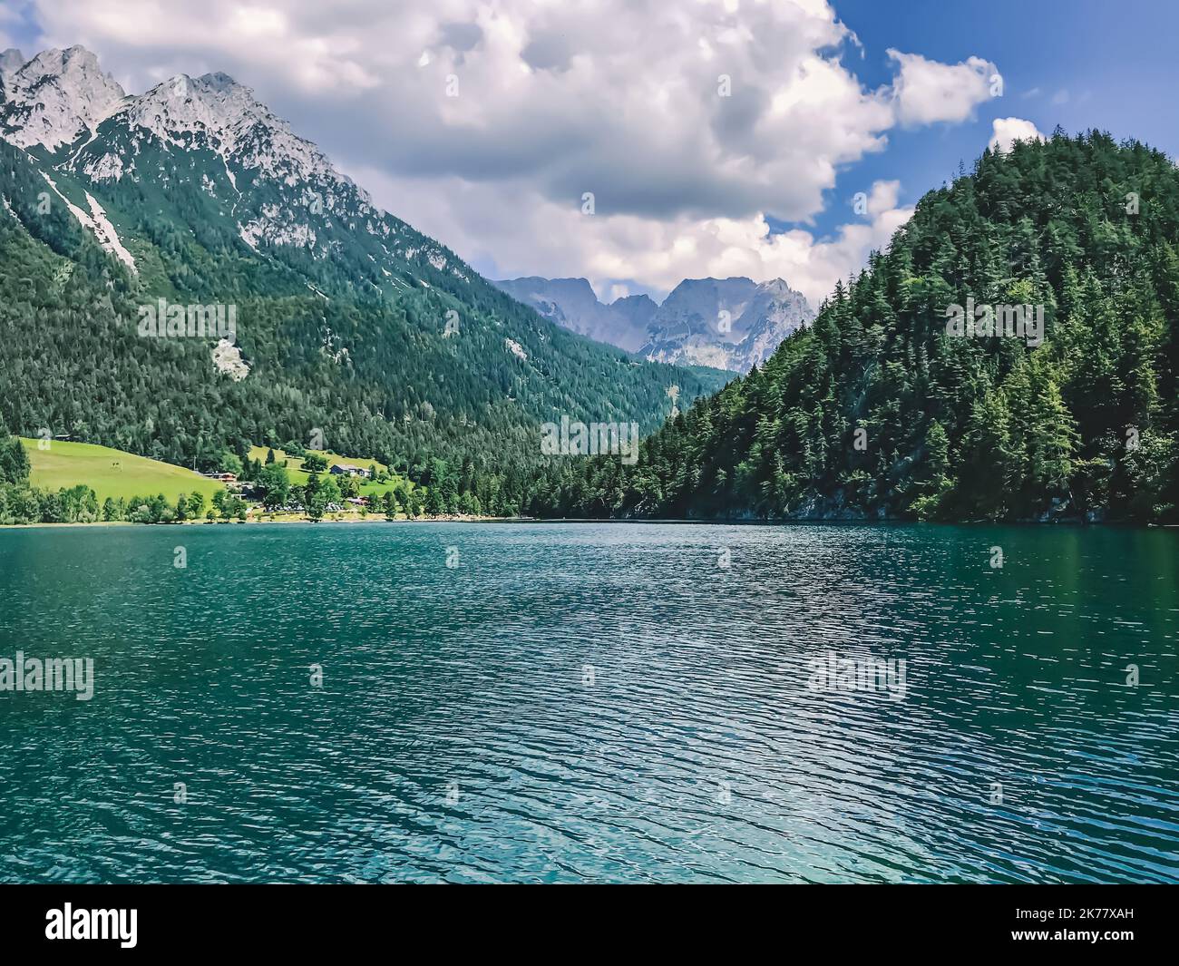
[[9,528],[18,651],[4,881],[1179,881],[1173,530]]

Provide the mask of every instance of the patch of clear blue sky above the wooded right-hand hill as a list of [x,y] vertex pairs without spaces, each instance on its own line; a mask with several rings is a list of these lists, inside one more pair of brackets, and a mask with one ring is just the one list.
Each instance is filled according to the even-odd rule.
[[1137,138],[1179,157],[1175,42],[1179,4],[1172,0],[839,0],[839,19],[859,38],[863,60],[848,55],[865,84],[887,84],[889,47],[957,63],[971,54],[994,61],[1003,97],[981,105],[974,121],[889,133],[889,147],[839,175],[821,231],[847,221],[847,204],[876,179],[898,179],[900,201],[969,170],[996,117],[1020,117],[1050,133],[1096,127]]

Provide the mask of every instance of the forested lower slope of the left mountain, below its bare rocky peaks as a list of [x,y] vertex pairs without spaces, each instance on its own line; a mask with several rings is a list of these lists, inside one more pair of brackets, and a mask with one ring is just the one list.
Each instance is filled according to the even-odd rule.
[[[251,248],[231,210],[242,189],[255,206],[294,202],[239,172],[231,205],[226,167],[209,152],[143,147],[151,177],[95,182],[61,167],[71,150],[42,157],[0,142],[0,419],[13,433],[216,469],[226,453],[310,445],[318,431],[321,445],[415,479],[436,478],[439,460],[444,475],[493,477],[485,489],[519,501],[545,420],[633,420],[650,432],[671,408],[670,385],[687,399],[726,377],[565,331],[391,216],[401,248],[389,255],[338,218],[327,226],[327,215],[315,254],[264,238]],[[84,211],[86,192],[105,208],[136,272],[58,190]],[[141,337],[139,307],[158,298],[236,305],[249,376],[216,370],[216,339]]]

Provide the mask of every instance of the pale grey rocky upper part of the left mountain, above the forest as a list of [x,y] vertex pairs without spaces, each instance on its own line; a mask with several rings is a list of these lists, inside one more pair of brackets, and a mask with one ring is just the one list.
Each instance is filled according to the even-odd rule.
[[[315,144],[224,73],[178,74],[127,96],[84,47],[28,61],[9,50],[0,55],[0,138],[46,162],[42,173],[52,170],[54,180],[137,199],[159,191],[191,201],[197,192],[203,226],[232,219],[253,252],[298,249],[360,276],[357,284],[373,293],[423,285],[419,267],[461,283],[470,278],[452,252],[381,211]],[[79,201],[67,204],[85,213]]]

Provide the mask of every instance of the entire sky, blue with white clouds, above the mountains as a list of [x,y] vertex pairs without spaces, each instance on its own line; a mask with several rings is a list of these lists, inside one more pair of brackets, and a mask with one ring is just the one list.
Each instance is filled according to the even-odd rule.
[[0,0],[129,92],[224,71],[492,278],[817,304],[988,146],[1179,155],[1172,0]]

